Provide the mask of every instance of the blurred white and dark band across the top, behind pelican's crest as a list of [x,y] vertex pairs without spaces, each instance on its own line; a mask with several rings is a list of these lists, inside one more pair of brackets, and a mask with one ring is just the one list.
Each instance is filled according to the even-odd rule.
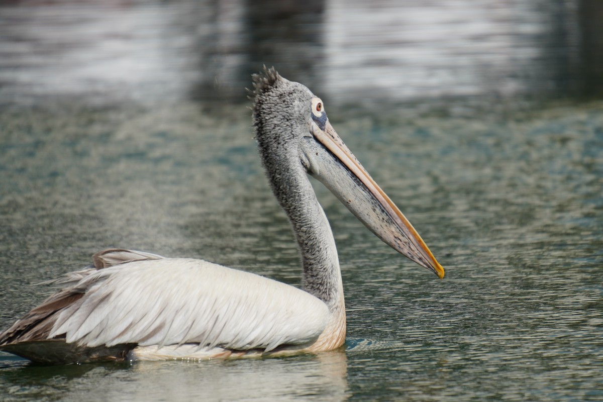
[[600,97],[602,20],[599,0],[5,0],[0,105],[245,102],[263,64],[329,105]]

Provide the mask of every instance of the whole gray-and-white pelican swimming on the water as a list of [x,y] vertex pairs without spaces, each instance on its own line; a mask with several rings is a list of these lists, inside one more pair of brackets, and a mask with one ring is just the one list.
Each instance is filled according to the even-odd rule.
[[0,350],[47,364],[318,353],[344,344],[333,234],[308,175],[369,230],[442,278],[408,219],[350,152],[323,101],[274,68],[253,75],[253,123],[274,195],[293,228],[301,289],[204,260],[104,250],[0,334]]

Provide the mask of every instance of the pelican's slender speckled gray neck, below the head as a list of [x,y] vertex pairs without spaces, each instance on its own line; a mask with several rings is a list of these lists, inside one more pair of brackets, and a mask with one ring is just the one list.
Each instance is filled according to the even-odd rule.
[[291,221],[301,252],[302,287],[334,312],[344,308],[343,284],[329,221],[300,163],[270,172],[274,195]]

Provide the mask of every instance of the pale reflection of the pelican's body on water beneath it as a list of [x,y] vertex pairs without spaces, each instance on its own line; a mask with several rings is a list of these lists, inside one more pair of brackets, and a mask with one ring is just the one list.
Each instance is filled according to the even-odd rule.
[[[8,398],[61,401],[346,400],[343,351],[292,359],[139,362],[13,369]],[[19,384],[19,386],[17,386]],[[101,391],[102,390],[102,391]]]

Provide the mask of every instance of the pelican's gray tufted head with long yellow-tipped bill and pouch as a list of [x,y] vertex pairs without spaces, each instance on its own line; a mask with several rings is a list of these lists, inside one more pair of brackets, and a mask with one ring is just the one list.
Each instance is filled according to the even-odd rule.
[[444,268],[421,236],[330,125],[323,101],[274,68],[253,81],[253,121],[268,174],[282,175],[283,166],[305,170],[381,240],[443,278]]

